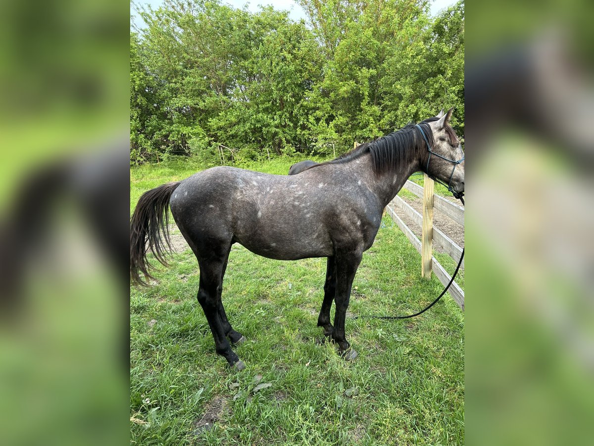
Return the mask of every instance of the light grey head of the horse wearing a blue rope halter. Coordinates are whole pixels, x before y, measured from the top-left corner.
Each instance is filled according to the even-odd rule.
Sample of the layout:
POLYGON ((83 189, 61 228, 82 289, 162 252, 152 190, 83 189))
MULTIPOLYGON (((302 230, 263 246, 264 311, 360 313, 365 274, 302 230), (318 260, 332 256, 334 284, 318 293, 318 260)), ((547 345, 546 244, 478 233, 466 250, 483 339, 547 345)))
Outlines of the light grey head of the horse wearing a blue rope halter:
MULTIPOLYGON (((422 158, 422 168, 431 177, 448 187, 455 197, 464 193, 464 152, 450 118, 454 109, 424 121, 431 129, 433 144, 422 158)), ((426 127, 425 127, 426 128, 426 127)))

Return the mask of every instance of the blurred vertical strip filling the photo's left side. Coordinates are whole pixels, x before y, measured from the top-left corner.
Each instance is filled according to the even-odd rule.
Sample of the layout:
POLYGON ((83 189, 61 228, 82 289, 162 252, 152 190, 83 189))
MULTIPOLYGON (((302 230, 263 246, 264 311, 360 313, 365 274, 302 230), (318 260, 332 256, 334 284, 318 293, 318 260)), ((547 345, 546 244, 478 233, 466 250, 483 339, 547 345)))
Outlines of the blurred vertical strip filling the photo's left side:
POLYGON ((2 444, 128 441, 128 11, 0 3, 2 444))

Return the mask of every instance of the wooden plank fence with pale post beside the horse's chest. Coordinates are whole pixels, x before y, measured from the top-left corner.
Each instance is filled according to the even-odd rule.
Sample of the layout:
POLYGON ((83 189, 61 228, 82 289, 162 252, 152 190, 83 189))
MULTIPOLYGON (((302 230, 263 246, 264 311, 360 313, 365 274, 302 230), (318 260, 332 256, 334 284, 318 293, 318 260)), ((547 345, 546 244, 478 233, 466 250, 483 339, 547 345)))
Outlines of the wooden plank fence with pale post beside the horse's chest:
MULTIPOLYGON (((416 196, 423 199, 423 213, 415 211, 405 200, 399 196, 394 197, 393 203, 397 206, 398 212, 402 212, 409 216, 418 227, 422 228, 422 240, 410 230, 409 227, 402 221, 398 216, 398 213, 388 205, 386 211, 388 215, 394 220, 399 228, 405 233, 406 237, 410 240, 410 243, 415 249, 421 254, 422 257, 422 268, 421 274, 423 277, 431 278, 431 272, 435 272, 435 275, 440 282, 445 286, 450 282, 451 276, 445 271, 440 262, 435 259, 432 253, 433 241, 443 247, 444 251, 457 263, 462 255, 462 248, 460 248, 450 237, 445 235, 443 232, 433 227, 433 211, 443 212, 445 215, 450 217, 457 224, 464 226, 464 208, 456 205, 456 203, 450 202, 443 197, 434 194, 434 181, 425 175, 425 187, 419 186, 410 180, 406 181, 404 189, 409 190, 416 196)), ((460 268, 464 268, 464 262, 460 265, 460 268)), ((464 310, 464 291, 456 282, 453 282, 448 290, 451 297, 456 303, 464 310)))

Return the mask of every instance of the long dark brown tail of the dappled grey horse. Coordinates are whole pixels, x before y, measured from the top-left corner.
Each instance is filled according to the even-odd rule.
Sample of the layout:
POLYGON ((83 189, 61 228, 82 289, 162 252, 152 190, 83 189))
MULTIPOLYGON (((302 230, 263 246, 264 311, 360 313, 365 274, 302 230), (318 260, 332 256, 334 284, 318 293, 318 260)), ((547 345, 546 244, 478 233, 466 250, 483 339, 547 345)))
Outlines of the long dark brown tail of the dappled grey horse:
POLYGON ((130 219, 130 277, 132 282, 148 285, 141 278, 153 278, 154 267, 147 260, 147 251, 167 266, 167 255, 171 251, 169 240, 169 199, 180 181, 167 183, 146 191, 138 200, 130 219))

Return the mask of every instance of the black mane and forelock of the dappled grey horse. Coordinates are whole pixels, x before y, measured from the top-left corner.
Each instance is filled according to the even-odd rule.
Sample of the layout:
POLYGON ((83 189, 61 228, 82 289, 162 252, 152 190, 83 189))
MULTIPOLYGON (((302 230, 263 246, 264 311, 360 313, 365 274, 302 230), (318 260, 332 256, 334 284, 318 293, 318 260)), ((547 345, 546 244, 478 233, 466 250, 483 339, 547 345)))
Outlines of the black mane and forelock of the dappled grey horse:
MULTIPOLYGON (((432 117, 419 123, 431 146, 433 146, 434 140, 433 132, 431 131, 431 128, 429 128, 429 123, 437 120, 437 117, 432 117)), ((445 126, 445 131, 450 137, 450 142, 452 144, 456 143, 456 133, 454 133, 450 124, 445 126)), ((318 165, 343 164, 352 161, 353 159, 360 158, 365 155, 365 153, 371 153, 374 172, 377 175, 381 175, 397 169, 400 165, 413 162, 414 157, 417 154, 415 149, 418 147, 426 147, 425 140, 415 124, 409 123, 400 130, 394 131, 381 138, 374 139, 373 141, 363 143, 349 152, 337 156, 335 159, 318 165)), ((309 169, 315 167, 316 166, 311 166, 309 169)))

